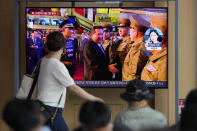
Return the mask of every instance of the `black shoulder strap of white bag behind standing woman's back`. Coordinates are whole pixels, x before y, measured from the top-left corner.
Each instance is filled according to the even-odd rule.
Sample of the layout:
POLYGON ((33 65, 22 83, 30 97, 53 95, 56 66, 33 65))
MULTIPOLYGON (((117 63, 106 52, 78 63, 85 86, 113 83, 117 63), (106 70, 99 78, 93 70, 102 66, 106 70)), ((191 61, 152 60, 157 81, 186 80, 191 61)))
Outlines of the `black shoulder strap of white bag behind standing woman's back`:
POLYGON ((32 94, 34 92, 34 89, 36 87, 36 83, 38 81, 38 76, 39 76, 39 73, 40 73, 40 65, 41 65, 41 60, 39 61, 39 63, 36 65, 36 68, 34 70, 34 72, 32 73, 34 76, 34 80, 33 80, 33 83, 31 85, 31 89, 29 91, 29 94, 27 96, 27 101, 31 100, 31 97, 32 97, 32 94))

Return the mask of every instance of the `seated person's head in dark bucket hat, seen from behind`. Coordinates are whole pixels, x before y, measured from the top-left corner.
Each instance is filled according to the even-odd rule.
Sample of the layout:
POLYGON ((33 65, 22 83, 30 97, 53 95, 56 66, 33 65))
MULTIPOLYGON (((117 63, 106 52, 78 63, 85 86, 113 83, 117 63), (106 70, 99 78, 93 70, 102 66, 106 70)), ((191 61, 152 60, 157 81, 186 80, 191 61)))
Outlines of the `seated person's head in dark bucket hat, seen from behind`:
POLYGON ((153 94, 150 93, 148 88, 145 86, 144 81, 135 79, 129 81, 126 92, 121 94, 120 97, 123 100, 126 100, 132 107, 135 105, 143 105, 143 104, 144 106, 145 105, 148 106, 148 100, 153 99, 154 96, 153 94))

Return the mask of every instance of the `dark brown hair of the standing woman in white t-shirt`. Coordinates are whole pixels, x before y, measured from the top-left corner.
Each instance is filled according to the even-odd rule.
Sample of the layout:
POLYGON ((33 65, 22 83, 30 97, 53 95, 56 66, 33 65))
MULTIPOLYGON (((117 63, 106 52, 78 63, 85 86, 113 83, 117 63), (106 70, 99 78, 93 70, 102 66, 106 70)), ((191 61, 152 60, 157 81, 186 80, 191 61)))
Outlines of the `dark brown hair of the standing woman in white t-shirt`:
POLYGON ((65 44, 65 38, 61 32, 54 31, 47 36, 46 47, 49 51, 58 51, 65 44))

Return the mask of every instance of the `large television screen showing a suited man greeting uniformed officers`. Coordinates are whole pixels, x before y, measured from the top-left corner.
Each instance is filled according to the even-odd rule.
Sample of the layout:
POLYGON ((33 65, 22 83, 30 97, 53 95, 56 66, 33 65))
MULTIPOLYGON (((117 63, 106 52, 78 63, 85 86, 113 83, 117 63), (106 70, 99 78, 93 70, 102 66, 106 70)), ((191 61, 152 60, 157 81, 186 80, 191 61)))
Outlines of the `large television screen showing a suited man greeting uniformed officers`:
POLYGON ((47 35, 65 35, 65 21, 73 20, 61 62, 76 84, 120 88, 142 79, 147 87, 168 87, 167 8, 34 7, 26 8, 26 18, 28 74, 48 53, 47 35))

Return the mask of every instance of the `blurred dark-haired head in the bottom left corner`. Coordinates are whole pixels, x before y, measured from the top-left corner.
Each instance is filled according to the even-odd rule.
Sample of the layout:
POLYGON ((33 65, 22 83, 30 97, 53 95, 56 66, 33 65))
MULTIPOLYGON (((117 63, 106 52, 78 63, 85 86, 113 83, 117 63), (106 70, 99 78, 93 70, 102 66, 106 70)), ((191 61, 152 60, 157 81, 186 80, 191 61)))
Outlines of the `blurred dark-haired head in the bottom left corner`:
POLYGON ((33 101, 11 100, 3 110, 3 119, 14 131, 39 131, 41 112, 33 101))

